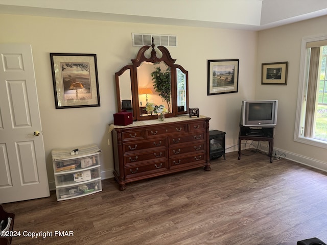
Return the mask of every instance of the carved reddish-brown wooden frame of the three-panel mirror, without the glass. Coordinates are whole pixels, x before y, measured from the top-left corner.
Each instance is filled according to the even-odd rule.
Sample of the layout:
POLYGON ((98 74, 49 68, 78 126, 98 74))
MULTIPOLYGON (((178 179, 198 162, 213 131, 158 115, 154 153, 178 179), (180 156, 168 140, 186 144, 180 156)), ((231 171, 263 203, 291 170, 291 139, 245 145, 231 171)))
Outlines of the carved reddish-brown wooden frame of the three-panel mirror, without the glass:
MULTIPOLYGON (((115 72, 115 82, 116 82, 116 93, 117 93, 117 105, 118 112, 122 111, 122 103, 120 99, 120 84, 119 77, 126 71, 130 70, 130 82, 131 82, 131 93, 132 93, 132 107, 133 107, 133 120, 150 120, 157 119, 157 114, 154 115, 140 115, 139 113, 139 100, 138 100, 138 81, 137 81, 137 67, 142 64, 142 62, 158 63, 164 61, 167 66, 171 67, 171 113, 166 113, 165 117, 174 117, 177 115, 183 115, 189 113, 189 72, 185 70, 181 65, 174 64, 176 59, 173 59, 164 46, 158 46, 157 49, 161 52, 162 56, 157 57, 157 52, 154 48, 153 38, 151 46, 145 45, 141 47, 136 55, 135 59, 132 59, 132 65, 126 65, 121 68, 118 72, 115 72), (152 47, 151 55, 149 58, 146 57, 146 52, 152 47), (177 106, 177 72, 180 69, 185 74, 185 86, 186 86, 186 108, 184 111, 178 111, 177 106)), ((149 75, 150 76, 150 75, 149 75)))

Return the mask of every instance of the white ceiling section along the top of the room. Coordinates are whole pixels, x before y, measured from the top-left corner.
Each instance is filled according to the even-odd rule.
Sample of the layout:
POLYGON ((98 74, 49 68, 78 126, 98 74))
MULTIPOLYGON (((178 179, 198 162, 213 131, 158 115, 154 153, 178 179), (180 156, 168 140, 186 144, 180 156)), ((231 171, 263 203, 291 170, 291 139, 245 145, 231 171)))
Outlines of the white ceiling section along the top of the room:
POLYGON ((327 15, 327 1, 0 0, 0 13, 259 31, 327 15))

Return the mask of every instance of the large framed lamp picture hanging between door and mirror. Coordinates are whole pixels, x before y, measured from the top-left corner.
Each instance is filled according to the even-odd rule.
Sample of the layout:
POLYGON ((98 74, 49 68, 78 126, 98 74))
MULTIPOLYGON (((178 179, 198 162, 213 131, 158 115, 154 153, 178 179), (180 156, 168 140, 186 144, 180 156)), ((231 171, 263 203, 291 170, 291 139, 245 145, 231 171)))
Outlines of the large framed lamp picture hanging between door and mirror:
POLYGON ((50 53, 56 109, 100 106, 96 54, 50 53))

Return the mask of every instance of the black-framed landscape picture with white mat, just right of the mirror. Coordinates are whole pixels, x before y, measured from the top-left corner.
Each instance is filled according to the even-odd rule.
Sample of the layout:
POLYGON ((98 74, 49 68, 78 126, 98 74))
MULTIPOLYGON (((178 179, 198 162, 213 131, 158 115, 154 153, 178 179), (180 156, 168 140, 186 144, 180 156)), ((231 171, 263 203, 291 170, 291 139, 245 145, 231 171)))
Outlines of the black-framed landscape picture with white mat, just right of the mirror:
POLYGON ((208 60, 207 79, 207 95, 238 92, 239 60, 208 60))

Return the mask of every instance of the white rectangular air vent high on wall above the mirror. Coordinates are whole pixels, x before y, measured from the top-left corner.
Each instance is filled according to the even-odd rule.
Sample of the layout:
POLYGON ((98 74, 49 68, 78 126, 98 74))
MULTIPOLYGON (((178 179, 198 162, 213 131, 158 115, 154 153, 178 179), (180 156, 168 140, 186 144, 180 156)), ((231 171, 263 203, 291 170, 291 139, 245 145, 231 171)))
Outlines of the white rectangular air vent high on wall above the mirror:
POLYGON ((177 46, 177 36, 175 35, 132 33, 133 46, 151 45, 152 38, 156 46, 177 46))

